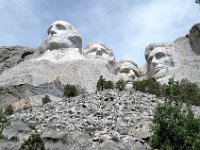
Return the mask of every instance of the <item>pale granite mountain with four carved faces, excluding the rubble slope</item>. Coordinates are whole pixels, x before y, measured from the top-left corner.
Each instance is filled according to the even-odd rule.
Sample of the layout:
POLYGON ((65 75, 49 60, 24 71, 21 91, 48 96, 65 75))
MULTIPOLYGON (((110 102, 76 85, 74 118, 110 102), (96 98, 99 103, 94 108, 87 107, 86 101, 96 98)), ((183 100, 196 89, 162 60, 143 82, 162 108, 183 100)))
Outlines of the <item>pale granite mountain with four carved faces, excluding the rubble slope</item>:
POLYGON ((144 66, 133 60, 116 61, 114 51, 104 44, 89 43, 82 48, 80 34, 68 22, 54 22, 47 33, 37 49, 1 47, 0 91, 9 91, 1 100, 45 94, 62 97, 66 84, 93 93, 101 75, 113 82, 123 79, 126 89, 134 80, 155 78, 166 83, 172 77, 187 78, 200 86, 200 24, 173 43, 147 46, 144 66))

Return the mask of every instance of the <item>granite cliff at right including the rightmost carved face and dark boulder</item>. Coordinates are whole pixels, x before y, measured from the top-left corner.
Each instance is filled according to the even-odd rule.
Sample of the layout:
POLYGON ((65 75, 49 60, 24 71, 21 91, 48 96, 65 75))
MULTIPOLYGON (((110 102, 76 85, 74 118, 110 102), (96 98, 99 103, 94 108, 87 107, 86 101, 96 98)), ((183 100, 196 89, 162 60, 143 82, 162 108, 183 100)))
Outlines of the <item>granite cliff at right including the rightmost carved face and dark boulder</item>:
POLYGON ((170 44, 151 44, 146 48, 147 71, 142 79, 156 78, 166 83, 169 78, 187 78, 200 86, 199 24, 192 27, 189 37, 181 37, 170 44))

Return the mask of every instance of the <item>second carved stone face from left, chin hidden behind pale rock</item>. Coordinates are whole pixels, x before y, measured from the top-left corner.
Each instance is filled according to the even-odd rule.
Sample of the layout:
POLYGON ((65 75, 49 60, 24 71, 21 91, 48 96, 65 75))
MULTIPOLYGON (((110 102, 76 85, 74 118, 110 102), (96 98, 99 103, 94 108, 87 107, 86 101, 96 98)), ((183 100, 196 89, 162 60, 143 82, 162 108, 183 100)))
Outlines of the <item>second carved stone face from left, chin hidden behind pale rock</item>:
POLYGON ((103 59, 115 61, 113 51, 103 44, 89 44, 84 50, 83 54, 89 59, 103 59))

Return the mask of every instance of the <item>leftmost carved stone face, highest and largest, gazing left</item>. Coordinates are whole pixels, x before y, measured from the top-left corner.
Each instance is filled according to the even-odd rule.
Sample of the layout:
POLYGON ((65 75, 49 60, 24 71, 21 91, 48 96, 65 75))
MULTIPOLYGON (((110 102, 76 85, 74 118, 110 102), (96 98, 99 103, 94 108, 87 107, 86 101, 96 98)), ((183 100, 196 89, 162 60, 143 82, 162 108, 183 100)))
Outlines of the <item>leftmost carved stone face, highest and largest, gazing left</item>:
POLYGON ((60 48, 82 47, 82 40, 77 30, 65 21, 56 21, 48 29, 48 48, 50 50, 60 48))

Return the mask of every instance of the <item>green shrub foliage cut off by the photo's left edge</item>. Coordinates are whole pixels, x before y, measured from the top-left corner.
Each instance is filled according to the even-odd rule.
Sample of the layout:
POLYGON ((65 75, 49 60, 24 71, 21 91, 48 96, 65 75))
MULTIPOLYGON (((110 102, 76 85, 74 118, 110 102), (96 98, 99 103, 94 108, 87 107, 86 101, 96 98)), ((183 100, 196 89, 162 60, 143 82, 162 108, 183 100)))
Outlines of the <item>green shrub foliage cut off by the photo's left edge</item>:
POLYGON ((10 125, 5 111, 0 108, 0 139, 2 138, 3 129, 10 125))

